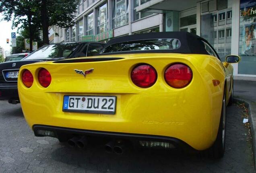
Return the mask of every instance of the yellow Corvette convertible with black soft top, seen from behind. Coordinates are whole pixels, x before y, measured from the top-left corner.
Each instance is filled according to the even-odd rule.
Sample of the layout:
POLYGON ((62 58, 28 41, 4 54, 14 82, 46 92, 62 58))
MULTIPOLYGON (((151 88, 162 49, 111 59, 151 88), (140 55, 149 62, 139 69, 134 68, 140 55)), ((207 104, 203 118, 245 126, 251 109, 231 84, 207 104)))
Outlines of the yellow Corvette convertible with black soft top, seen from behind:
POLYGON ((233 67, 203 38, 159 32, 110 40, 99 56, 22 66, 18 90, 35 136, 72 147, 108 141, 125 147, 225 151, 226 105, 233 67))

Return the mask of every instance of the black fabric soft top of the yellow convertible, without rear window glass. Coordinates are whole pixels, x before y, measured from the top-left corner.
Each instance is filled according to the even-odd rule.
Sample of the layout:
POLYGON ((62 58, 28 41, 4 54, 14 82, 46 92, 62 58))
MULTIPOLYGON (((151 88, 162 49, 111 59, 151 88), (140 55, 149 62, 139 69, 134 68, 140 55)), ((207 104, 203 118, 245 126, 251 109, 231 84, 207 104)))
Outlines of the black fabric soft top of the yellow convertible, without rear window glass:
MULTIPOLYGON (((169 50, 141 50, 141 51, 128 51, 128 52, 104 52, 104 49, 100 54, 125 54, 125 53, 183 53, 183 54, 209 54, 205 50, 205 46, 202 40, 208 43, 204 38, 191 34, 190 32, 151 32, 146 34, 134 34, 128 36, 122 36, 111 39, 107 42, 105 48, 109 45, 129 42, 135 40, 147 40, 147 39, 161 39, 161 38, 176 38, 180 40, 180 47, 177 49, 169 50)), ((209 43, 208 43, 209 44, 209 43)), ((210 44, 209 44, 210 45, 210 44)), ((211 45, 210 45, 211 46, 211 45)), ((214 49, 213 49, 214 50, 214 49)), ((216 53, 216 52, 215 52, 216 53)), ((217 53, 216 53, 217 54, 217 53)))

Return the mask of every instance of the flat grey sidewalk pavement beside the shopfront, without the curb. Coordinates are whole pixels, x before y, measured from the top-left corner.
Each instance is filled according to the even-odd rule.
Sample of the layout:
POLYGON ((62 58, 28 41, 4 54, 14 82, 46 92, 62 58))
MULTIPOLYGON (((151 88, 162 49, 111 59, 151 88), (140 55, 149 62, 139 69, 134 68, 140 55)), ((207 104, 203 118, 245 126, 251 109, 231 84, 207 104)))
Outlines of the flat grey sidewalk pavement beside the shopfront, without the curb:
POLYGON ((256 81, 234 80, 234 96, 256 103, 256 81))

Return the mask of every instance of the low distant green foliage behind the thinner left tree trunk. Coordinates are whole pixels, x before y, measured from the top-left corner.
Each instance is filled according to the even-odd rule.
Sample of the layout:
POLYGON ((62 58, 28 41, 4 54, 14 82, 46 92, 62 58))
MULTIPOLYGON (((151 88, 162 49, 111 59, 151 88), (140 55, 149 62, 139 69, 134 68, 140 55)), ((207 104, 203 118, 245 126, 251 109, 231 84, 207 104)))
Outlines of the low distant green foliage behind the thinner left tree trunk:
MULTIPOLYGON (((19 31, 19 36, 16 37, 16 47, 12 47, 11 54, 21 53, 22 50, 25 50, 24 39, 29 37, 29 29, 24 28, 19 31)), ((39 32, 33 32, 33 41, 37 42, 37 46, 41 47, 43 45, 41 38, 39 37, 39 32)))

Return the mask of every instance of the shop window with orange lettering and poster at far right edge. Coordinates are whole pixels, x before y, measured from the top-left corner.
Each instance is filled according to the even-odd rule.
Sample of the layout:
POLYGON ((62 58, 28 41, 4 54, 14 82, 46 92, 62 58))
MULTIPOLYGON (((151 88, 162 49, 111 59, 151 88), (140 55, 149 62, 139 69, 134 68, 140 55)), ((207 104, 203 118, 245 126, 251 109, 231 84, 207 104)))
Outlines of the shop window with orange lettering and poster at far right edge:
POLYGON ((256 74, 256 2, 240 0, 239 74, 256 74))

